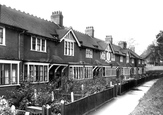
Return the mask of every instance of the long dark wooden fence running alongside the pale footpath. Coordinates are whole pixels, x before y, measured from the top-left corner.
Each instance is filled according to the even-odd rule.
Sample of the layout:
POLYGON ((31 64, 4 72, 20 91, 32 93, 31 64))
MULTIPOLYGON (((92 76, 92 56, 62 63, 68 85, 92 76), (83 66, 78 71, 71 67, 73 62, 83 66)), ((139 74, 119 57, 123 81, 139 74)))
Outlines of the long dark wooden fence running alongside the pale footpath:
MULTIPOLYGON (((153 73, 150 73, 150 74, 143 76, 139 79, 133 79, 133 80, 126 81, 121 85, 115 85, 112 88, 109 88, 102 92, 98 92, 98 93, 92 94, 90 96, 81 98, 72 103, 69 103, 69 104, 62 103, 61 104, 61 115, 83 115, 83 114, 88 113, 91 110, 99 107, 100 105, 110 101, 117 95, 121 95, 121 94, 129 91, 130 89, 143 84, 144 82, 147 82, 149 80, 156 79, 156 78, 159 78, 162 76, 163 76, 163 74, 161 74, 161 73, 158 74, 156 72, 153 72, 153 73)), ((48 110, 50 111, 50 109, 48 109, 48 110)), ((41 110, 41 111, 40 111, 39 115, 51 115, 51 114, 47 114, 47 110, 46 111, 41 110)), ((33 113, 34 113, 34 111, 33 111, 33 113)))

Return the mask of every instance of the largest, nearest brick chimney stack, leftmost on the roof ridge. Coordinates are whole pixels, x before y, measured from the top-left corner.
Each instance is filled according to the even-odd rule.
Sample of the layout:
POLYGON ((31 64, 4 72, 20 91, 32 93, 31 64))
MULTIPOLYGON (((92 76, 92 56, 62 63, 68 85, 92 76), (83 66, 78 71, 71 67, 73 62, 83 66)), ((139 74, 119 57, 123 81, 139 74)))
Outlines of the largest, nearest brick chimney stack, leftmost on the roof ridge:
POLYGON ((63 15, 61 11, 54 11, 51 15, 51 21, 58 24, 59 26, 63 26, 63 15))

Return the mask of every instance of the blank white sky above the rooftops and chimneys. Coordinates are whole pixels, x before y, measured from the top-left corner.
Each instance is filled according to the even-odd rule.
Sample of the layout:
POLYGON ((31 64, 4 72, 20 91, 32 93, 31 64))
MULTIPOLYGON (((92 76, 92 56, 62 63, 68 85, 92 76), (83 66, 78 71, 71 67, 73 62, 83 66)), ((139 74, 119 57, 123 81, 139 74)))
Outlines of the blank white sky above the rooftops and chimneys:
POLYGON ((47 20, 53 11, 62 11, 63 24, 85 33, 93 26, 95 37, 113 43, 132 41, 139 55, 163 30, 162 0, 0 0, 1 5, 47 20))

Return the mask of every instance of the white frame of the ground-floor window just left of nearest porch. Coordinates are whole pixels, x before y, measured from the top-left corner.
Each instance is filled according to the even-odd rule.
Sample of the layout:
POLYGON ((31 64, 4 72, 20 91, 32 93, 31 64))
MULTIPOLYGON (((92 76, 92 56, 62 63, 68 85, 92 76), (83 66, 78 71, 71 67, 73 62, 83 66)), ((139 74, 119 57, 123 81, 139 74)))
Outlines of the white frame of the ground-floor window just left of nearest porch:
MULTIPOLYGON (((49 63, 26 62, 23 65, 24 66, 24 69, 25 69, 25 65, 27 65, 27 79, 25 79, 24 78, 25 76, 23 76, 23 80, 29 80, 31 83, 46 83, 46 82, 49 82, 49 63), (33 66, 33 67, 34 66, 43 66, 43 71, 44 71, 44 67, 47 67, 47 70, 46 70, 46 72, 47 72, 46 81, 31 81, 31 79, 30 79, 30 66, 33 66)), ((24 69, 23 69, 23 71, 24 71, 24 69)), ((33 73, 34 73, 34 71, 33 71, 33 73)), ((43 72, 43 75, 44 75, 44 72, 43 72)))

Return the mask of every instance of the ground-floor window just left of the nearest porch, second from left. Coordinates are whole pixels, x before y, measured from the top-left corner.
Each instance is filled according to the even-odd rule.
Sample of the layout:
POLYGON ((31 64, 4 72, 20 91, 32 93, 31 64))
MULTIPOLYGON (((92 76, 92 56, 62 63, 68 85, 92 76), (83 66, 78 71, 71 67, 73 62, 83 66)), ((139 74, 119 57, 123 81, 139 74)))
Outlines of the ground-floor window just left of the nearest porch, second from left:
POLYGON ((25 63, 24 64, 24 81, 47 82, 48 66, 45 63, 25 63))

